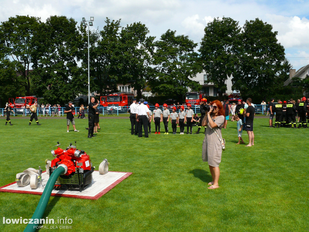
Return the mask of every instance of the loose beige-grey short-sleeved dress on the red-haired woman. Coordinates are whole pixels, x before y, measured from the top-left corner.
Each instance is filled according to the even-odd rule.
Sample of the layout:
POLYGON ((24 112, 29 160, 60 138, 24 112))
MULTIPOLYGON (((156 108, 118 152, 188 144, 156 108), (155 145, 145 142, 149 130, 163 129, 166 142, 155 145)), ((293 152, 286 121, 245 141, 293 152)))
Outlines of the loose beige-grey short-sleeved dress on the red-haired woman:
MULTIPOLYGON (((224 118, 224 116, 220 115, 214 119, 214 122, 218 125, 218 127, 215 127, 214 130, 218 133, 221 139, 221 129, 224 124, 224 118)), ((219 167, 221 162, 222 146, 217 135, 214 133, 214 130, 210 127, 209 122, 207 122, 205 138, 202 147, 202 159, 204 162, 208 162, 208 165, 210 166, 219 167)))

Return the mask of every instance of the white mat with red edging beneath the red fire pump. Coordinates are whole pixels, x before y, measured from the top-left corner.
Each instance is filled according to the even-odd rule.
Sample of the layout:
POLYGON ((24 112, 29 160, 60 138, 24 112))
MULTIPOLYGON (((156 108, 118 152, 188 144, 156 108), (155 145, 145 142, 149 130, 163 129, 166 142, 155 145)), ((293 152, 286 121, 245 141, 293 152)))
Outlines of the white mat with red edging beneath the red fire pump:
MULTIPOLYGON (((131 174, 132 172, 109 171, 107 174, 100 175, 99 171, 94 171, 92 173, 91 184, 89 184, 83 191, 80 192, 70 190, 53 190, 51 195, 98 200, 101 196, 103 196, 121 181, 128 178, 131 174)), ((42 173, 42 182, 44 187, 46 186, 48 179, 49 175, 46 172, 42 173)), ((40 188, 31 189, 29 184, 25 187, 18 187, 16 182, 0 187, 0 192, 15 192, 42 195, 43 191, 44 189, 40 188)))

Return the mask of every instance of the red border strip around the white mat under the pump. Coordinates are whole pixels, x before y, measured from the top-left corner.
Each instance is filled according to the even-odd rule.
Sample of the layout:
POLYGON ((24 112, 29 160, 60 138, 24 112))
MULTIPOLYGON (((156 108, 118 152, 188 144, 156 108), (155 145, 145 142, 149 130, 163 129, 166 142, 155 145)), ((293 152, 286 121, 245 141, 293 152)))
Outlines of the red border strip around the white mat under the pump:
MULTIPOLYGON (((95 171, 95 172, 98 172, 98 171, 95 171)), ((110 172, 114 172, 114 171, 110 171, 110 172)), ((121 173, 126 173, 126 174, 123 177, 121 177, 120 179, 116 180, 111 185, 109 185, 107 188, 105 188, 104 190, 99 192, 95 196, 76 196, 76 195, 68 195, 68 194, 61 194, 61 193, 52 193, 51 196, 63 196, 63 197, 73 197, 73 198, 81 198, 81 199, 89 199, 89 200, 98 200, 101 196, 103 196, 105 193, 110 191, 113 187, 115 187, 121 181, 123 181, 124 179, 128 178, 131 174, 133 174, 132 172, 121 172, 121 173)), ((28 193, 28 194, 36 194, 36 195, 42 195, 42 193, 43 193, 43 192, 2 189, 4 187, 10 186, 10 185, 15 184, 15 183, 16 183, 16 181, 0 187, 0 192, 28 193)))

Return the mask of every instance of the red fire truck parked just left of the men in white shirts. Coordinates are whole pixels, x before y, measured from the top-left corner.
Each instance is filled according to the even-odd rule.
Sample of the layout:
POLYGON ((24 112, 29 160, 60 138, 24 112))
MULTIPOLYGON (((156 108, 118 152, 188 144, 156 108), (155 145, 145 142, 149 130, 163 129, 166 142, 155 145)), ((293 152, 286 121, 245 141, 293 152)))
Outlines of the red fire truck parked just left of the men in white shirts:
POLYGON ((106 110, 123 110, 127 111, 133 102, 133 93, 113 93, 107 95, 106 110))

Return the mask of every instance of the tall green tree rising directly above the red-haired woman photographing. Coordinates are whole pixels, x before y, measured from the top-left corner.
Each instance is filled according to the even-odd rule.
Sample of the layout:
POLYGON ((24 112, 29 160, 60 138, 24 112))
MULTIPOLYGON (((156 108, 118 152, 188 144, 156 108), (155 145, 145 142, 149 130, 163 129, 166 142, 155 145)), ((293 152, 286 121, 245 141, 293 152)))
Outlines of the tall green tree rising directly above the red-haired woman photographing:
POLYGON ((209 22, 204 31, 199 49, 201 62, 209 81, 218 88, 219 98, 222 99, 222 93, 227 89, 226 80, 235 73, 238 63, 240 27, 237 21, 223 17, 209 22))

